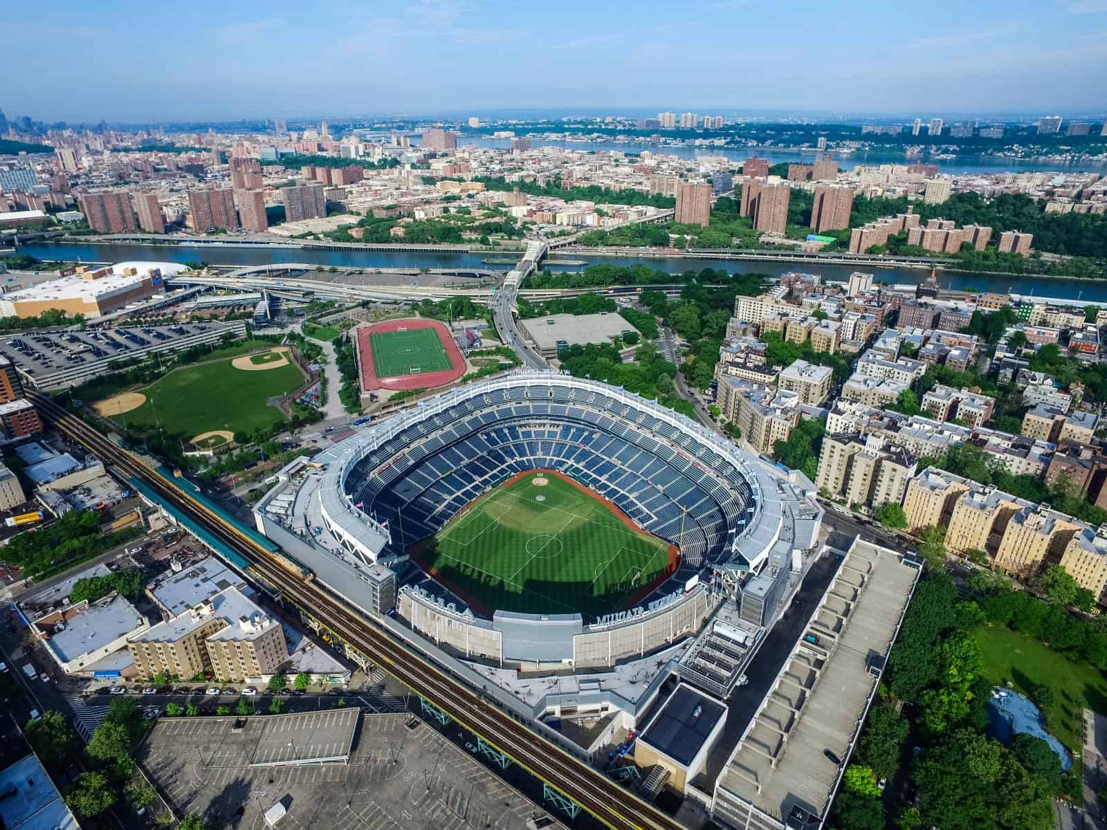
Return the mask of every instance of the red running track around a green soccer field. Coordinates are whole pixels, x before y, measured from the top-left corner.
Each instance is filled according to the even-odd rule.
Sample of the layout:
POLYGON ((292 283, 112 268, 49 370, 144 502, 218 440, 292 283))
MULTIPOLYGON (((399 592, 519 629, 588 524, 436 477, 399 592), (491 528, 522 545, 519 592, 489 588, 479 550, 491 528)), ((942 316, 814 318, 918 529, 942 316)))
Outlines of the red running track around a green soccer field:
POLYGON ((358 330, 365 392, 434 388, 465 373, 465 359, 437 320, 389 320, 358 330))

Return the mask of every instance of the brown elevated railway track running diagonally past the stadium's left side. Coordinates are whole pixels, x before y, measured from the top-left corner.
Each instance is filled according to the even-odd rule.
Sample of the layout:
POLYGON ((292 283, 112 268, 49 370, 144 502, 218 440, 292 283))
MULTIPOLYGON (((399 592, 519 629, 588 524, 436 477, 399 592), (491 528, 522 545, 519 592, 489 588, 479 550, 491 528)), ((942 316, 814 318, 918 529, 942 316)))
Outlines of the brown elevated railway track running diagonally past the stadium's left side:
POLYGON ((371 620, 348 611, 340 599, 318 582, 304 582, 296 578, 234 525, 188 498, 161 475, 48 396, 31 391, 28 396, 61 432, 111 463, 124 475, 141 479, 192 519, 204 525, 220 541, 249 561, 258 574, 277 587, 286 599, 310 610, 313 615, 325 621, 335 634, 375 660, 401 683, 474 734, 480 735, 520 767, 571 798, 599 821, 618 830, 681 829, 682 826, 674 819, 537 735, 507 713, 486 703, 445 670, 393 640, 371 620))

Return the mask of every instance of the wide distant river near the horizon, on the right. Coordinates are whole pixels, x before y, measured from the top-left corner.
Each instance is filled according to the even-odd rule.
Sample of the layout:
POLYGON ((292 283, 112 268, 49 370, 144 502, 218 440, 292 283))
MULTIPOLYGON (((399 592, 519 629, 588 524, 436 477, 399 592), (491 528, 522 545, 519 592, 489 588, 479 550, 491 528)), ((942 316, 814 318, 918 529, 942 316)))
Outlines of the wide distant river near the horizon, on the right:
MULTIPOLYGON (((642 153, 649 151, 660 155, 679 156, 680 158, 694 159, 700 156, 725 156, 735 162, 744 162, 749 156, 757 155, 767 158, 769 164, 780 164, 784 162, 803 162, 810 164, 815 160, 816 153, 800 153, 798 149, 783 149, 775 147, 670 147, 664 144, 635 144, 631 142, 566 142, 551 141, 545 138, 531 138, 535 147, 562 147, 565 149, 577 151, 623 151, 625 153, 642 153)), ((493 147, 495 149, 510 149, 510 138, 477 138, 465 136, 458 139, 461 146, 469 145, 477 147, 493 147)), ((417 143, 412 139, 412 143, 417 143)), ((996 156, 964 155, 956 158, 929 158, 925 156, 908 158, 902 152, 892 151, 863 151, 852 153, 848 156, 839 156, 830 153, 838 159, 838 166, 844 170, 851 170, 857 165, 880 165, 880 164, 937 164, 942 173, 950 175, 963 173, 1035 173, 1035 172, 1064 172, 1064 173, 1098 173, 1107 175, 1107 162, 1087 160, 1062 164, 1046 159, 1023 159, 1023 158, 1001 158, 996 156)))

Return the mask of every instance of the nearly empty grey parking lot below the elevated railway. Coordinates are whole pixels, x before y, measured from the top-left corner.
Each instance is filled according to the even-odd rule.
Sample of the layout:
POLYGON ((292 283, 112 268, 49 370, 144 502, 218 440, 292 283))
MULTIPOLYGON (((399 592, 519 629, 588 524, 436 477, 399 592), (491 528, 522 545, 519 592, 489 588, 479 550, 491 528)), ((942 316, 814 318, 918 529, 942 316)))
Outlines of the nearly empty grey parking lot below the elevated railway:
POLYGON ((524 830, 528 819, 549 817, 474 751, 413 715, 346 709, 292 717, 301 720, 284 728, 283 717, 165 719, 137 758, 175 811, 197 812, 211 827, 262 827, 262 813, 278 802, 288 810, 280 826, 293 830, 524 830), (352 724, 337 719, 350 716, 356 718, 352 724), (313 718, 334 723, 317 726, 313 718), (244 720, 235 733, 236 722, 244 720), (262 727, 251 720, 267 732, 256 733, 262 727), (327 741, 338 743, 348 727, 348 762, 262 766, 284 764, 288 753, 299 753, 299 735, 314 741, 312 751, 329 751, 327 741))

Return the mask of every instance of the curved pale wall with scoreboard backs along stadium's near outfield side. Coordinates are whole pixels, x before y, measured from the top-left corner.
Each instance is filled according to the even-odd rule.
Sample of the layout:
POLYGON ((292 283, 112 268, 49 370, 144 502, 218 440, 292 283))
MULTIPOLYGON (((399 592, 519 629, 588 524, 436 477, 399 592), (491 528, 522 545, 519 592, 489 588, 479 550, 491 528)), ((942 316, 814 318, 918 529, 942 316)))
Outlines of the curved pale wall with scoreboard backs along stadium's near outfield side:
POLYGON ((489 622, 405 585, 400 590, 399 612, 415 631, 469 660, 499 665, 506 661, 529 666, 603 668, 694 635, 723 596, 700 585, 654 611, 583 625, 579 614, 544 616, 503 611, 497 611, 489 622))

